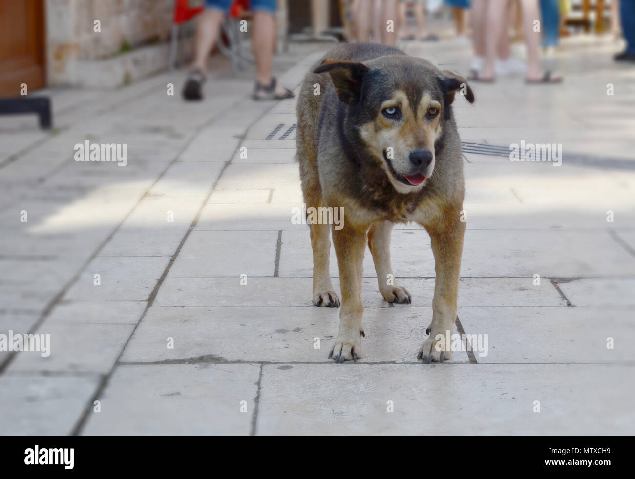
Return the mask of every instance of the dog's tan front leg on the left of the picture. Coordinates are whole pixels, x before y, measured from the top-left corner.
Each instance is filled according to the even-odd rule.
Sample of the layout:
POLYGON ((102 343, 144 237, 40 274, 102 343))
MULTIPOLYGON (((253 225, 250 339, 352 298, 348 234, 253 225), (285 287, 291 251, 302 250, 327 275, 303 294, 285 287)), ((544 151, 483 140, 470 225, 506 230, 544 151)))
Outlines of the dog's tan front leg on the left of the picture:
POLYGON ((342 288, 340 331, 328 355, 335 362, 341 363, 361 358, 361 337, 364 336, 361 281, 367 229, 355 228, 347 225, 346 222, 344 222, 344 228, 340 230, 333 227, 333 244, 342 288))

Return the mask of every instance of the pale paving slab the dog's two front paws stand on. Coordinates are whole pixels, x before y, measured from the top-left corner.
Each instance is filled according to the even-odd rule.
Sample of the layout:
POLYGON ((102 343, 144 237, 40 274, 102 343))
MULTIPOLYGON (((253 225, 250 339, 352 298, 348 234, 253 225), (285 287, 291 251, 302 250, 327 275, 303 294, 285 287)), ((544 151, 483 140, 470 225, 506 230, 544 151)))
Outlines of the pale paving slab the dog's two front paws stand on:
MULTIPOLYGON (((431 318, 432 308, 366 308, 360 361, 417 362, 431 318)), ((121 361, 194 362, 212 355, 220 362, 328 362, 339 322, 334 308, 152 306, 121 361), (173 349, 166 347, 168 338, 174 339, 173 349), (315 338, 319 349, 314 348, 315 338)), ((458 351, 451 362, 469 362, 469 358, 458 351)))

